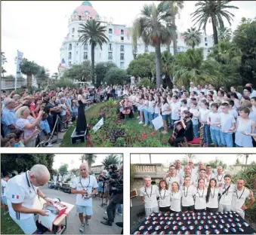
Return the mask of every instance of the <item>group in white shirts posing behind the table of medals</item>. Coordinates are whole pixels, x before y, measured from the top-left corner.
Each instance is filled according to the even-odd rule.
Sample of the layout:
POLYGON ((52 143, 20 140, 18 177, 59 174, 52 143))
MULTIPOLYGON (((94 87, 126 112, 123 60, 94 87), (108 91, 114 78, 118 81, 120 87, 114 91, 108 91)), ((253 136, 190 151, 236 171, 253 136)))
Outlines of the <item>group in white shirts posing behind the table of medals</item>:
POLYGON ((143 176, 140 197, 146 216, 153 212, 229 212, 235 211, 245 218, 245 210, 254 203, 252 191, 245 187, 245 179, 232 182, 222 166, 212 172, 211 165, 193 165, 190 160, 182 167, 180 160, 169 167, 169 172, 153 185, 150 175, 143 176), (246 204, 245 200, 249 202, 246 204))

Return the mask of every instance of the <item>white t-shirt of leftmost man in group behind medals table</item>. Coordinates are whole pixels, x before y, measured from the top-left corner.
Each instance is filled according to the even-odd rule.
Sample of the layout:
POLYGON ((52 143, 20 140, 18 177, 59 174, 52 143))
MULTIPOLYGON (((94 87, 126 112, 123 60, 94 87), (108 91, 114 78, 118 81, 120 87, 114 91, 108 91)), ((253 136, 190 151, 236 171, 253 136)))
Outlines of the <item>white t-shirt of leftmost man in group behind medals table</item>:
POLYGON ((159 188, 156 185, 140 188, 140 196, 145 198, 145 208, 158 207, 156 197, 159 197, 159 188))

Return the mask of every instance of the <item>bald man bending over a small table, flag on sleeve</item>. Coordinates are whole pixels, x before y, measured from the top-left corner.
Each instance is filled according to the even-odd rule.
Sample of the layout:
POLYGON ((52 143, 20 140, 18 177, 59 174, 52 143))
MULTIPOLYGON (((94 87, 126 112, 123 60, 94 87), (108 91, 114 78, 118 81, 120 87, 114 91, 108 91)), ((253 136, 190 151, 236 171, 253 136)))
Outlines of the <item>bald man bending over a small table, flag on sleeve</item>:
POLYGON ((46 197, 39 186, 46 185, 50 179, 50 173, 46 166, 37 164, 30 171, 11 178, 6 186, 6 198, 9 214, 25 234, 35 233, 34 214, 48 215, 45 209, 33 209, 36 197, 42 197, 47 203, 53 200, 46 197))

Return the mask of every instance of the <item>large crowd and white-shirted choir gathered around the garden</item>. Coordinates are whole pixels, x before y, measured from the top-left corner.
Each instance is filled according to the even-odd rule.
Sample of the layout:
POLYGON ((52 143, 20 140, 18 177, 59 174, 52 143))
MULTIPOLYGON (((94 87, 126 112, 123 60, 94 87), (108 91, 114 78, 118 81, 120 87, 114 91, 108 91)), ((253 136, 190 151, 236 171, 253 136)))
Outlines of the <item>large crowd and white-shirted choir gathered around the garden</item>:
MULTIPOLYGON (((224 87, 215 90, 211 84, 196 87, 191 82, 189 89, 176 85, 172 89, 111 85, 2 93, 2 147, 51 145, 51 133, 65 132, 77 118, 81 104, 109 98, 120 101, 122 118, 124 114, 134 118, 137 113, 144 127, 153 128, 153 120, 161 115, 162 133, 174 130, 174 146, 201 137, 200 128, 205 147, 256 146, 256 90, 251 84, 245 84, 241 94, 234 86, 230 91, 224 87)), ((85 117, 78 123, 85 129, 85 117)))

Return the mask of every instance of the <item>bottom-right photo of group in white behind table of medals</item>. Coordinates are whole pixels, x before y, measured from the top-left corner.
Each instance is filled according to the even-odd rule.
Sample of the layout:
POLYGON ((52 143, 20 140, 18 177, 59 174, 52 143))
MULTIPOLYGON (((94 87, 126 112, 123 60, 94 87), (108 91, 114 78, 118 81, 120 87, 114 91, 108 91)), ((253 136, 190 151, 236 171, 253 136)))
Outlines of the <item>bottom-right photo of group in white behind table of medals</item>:
POLYGON ((256 154, 131 154, 132 234, 256 233, 256 154))

